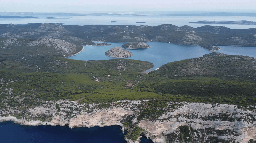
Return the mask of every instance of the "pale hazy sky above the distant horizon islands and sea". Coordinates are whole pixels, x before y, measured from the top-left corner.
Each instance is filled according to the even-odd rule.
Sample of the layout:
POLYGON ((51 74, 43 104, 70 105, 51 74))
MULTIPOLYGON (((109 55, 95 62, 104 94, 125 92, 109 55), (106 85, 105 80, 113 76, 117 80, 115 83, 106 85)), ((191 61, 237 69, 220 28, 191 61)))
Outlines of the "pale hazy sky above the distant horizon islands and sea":
POLYGON ((255 0, 0 0, 0 12, 256 12, 255 0))

